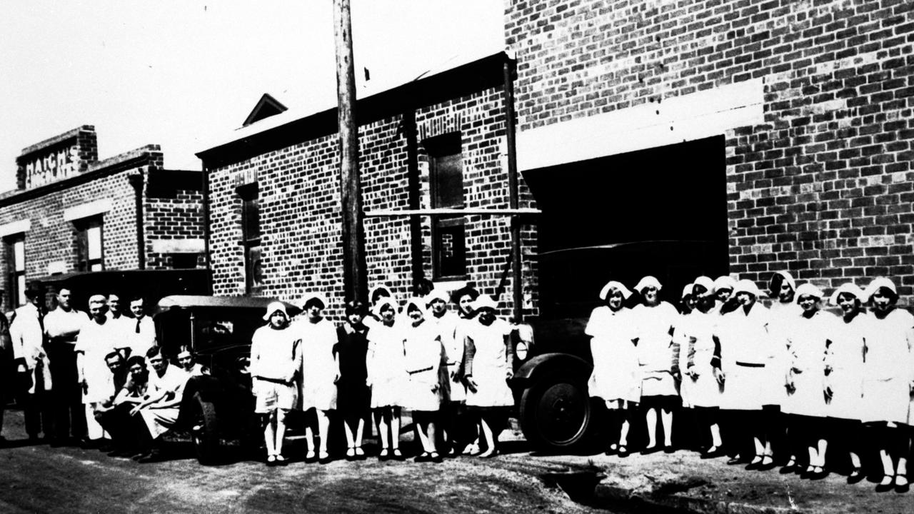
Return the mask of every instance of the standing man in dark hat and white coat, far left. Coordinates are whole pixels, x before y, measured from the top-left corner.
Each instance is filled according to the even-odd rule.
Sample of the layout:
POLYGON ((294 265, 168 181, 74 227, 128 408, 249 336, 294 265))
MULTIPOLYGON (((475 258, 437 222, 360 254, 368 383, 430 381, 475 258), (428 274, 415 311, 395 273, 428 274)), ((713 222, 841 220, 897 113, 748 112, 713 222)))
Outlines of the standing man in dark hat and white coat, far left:
POLYGON ((44 349, 44 327, 41 312, 41 290, 37 284, 26 289, 26 305, 16 309, 9 327, 13 339, 13 359, 16 362, 17 403, 21 403, 26 417, 29 441, 37 441, 38 433, 53 436, 51 420, 50 361, 44 349))

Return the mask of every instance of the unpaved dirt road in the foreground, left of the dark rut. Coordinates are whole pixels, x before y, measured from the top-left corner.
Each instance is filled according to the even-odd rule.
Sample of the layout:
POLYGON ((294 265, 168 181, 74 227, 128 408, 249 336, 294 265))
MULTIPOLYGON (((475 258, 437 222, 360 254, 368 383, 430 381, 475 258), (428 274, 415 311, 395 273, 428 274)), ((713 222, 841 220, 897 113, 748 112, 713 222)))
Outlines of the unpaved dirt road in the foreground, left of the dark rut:
MULTIPOLYGON (((538 477, 561 471, 525 452, 443 464, 335 461, 204 467, 189 456, 136 464, 97 450, 16 445, 21 412, 7 412, 0 512, 605 512, 572 502, 538 477)), ((523 442, 506 449, 523 450, 523 442)), ((292 450, 300 447, 293 444, 292 450)), ((369 450, 370 451, 370 450, 369 450)))

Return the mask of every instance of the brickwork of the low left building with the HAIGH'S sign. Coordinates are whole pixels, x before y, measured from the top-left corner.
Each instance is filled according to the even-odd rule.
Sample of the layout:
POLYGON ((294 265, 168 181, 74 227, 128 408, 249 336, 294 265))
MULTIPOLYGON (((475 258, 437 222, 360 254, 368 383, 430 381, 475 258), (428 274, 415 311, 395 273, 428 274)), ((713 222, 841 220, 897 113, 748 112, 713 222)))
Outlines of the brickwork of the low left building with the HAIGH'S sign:
MULTIPOLYGON (((24 220, 30 224, 24 233, 27 280, 78 269, 79 231, 77 224, 64 219, 64 213, 97 200, 111 200, 110 209, 101 214, 104 269, 132 270, 139 265, 136 193, 130 177, 139 174, 143 176, 143 184, 148 185, 151 174, 163 171, 162 152, 158 145, 147 145, 100 162, 96 159, 95 134, 87 132, 87 127, 91 129, 87 125, 71 131, 79 132, 71 139, 77 154, 83 159, 92 159, 92 162, 80 160, 80 171, 75 176, 42 187, 16 190, 0 198, 0 225, 24 220), (54 270, 48 269, 48 264, 52 263, 54 270)), ((55 141, 55 145, 59 143, 54 138, 48 141, 55 141)), ((69 141, 68 136, 65 143, 69 144, 69 141)), ((27 148, 26 152, 48 147, 52 146, 38 144, 27 148)), ((147 268, 171 267, 170 256, 152 252, 152 241, 202 239, 201 200, 199 187, 197 190, 176 190, 173 198, 144 198, 147 268)), ((7 275, 10 266, 6 261, 6 253, 0 252, 0 271, 3 272, 0 286, 10 291, 7 275)), ((204 262, 200 261, 202 267, 204 262)), ((15 307, 9 305, 8 299, 5 304, 7 308, 15 307)))

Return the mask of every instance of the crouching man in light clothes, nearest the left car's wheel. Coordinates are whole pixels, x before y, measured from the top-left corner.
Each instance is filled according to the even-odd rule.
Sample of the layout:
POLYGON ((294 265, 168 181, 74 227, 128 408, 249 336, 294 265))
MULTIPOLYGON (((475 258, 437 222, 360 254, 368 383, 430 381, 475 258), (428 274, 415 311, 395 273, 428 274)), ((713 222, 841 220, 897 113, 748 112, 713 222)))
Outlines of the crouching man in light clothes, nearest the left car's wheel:
POLYGON ((146 439, 146 452, 136 459, 138 462, 154 462, 160 458, 157 440, 177 421, 184 386, 190 377, 183 369, 169 364, 159 347, 150 348, 146 357, 153 368, 149 389, 143 402, 131 411, 133 416, 142 416, 146 428, 146 433, 141 434, 141 438, 146 439))

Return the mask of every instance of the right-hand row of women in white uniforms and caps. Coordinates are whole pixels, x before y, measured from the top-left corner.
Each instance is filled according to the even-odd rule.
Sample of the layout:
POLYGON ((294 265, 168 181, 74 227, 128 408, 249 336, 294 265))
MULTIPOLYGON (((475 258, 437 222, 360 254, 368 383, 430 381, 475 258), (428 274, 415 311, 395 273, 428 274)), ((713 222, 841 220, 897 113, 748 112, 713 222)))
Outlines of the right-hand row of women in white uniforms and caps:
MULTIPOLYGON (((586 328, 594 364, 590 395, 614 414, 619 434, 608 454, 628 455, 639 403, 648 431, 644 451, 659 449, 655 411, 666 415, 657 400, 669 382, 681 402, 677 412, 696 414, 684 419, 696 420, 696 434, 710 439, 703 444, 707 458, 724 455, 726 444, 729 464, 768 470, 778 457, 781 473, 811 479, 846 459, 853 484, 864 477, 861 458, 878 455, 884 475, 877 490, 908 490, 914 316, 896 306, 891 280, 874 279, 866 291, 842 284, 826 296, 779 272, 770 283, 769 308, 752 281, 702 276, 685 287, 687 306, 675 316, 657 308, 664 305, 656 300, 660 287, 645 277, 634 288, 642 303, 629 309, 624 305, 632 292, 619 282, 606 284, 604 305, 593 310, 586 328), (840 316, 823 310, 823 300, 840 316), (864 441, 875 446, 872 455, 861 455, 864 441), (829 454, 834 462, 826 462, 830 443, 846 454, 829 454)), ((672 452, 675 425, 662 421, 664 449, 672 452)))

